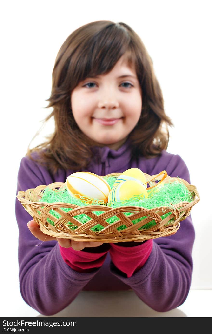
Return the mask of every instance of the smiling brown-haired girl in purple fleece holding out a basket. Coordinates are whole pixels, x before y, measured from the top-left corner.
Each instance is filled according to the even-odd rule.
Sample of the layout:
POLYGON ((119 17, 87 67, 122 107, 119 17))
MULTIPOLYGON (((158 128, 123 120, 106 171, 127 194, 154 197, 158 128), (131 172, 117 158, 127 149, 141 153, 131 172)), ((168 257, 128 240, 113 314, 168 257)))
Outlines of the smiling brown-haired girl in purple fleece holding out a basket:
MULTIPOLYGON (((48 107, 55 131, 28 149, 19 190, 65 182, 75 171, 98 175, 133 167, 166 170, 190 182, 179 155, 168 153, 171 126, 152 59, 125 23, 96 21, 75 30, 57 54, 48 107)), ((191 216, 176 234, 144 242, 78 242, 46 236, 16 201, 20 291, 43 315, 68 306, 81 290, 130 290, 156 311, 187 298, 192 276, 191 216), (28 223, 27 223, 28 222, 28 223), (38 239, 43 242, 39 246, 38 239)))

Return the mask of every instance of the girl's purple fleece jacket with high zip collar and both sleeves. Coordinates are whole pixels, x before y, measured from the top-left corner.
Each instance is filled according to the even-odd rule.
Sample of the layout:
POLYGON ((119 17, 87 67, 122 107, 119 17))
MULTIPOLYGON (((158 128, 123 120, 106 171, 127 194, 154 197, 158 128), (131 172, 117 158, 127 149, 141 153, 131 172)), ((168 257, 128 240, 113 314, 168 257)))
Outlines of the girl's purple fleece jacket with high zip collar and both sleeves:
MULTIPOLYGON (((151 159, 133 158, 127 140, 117 151, 98 146, 92 147, 92 151, 93 161, 85 171, 104 176, 133 167, 150 175, 166 170, 171 177, 179 176, 191 183, 183 159, 166 150, 151 159)), ((23 157, 18 171, 17 193, 41 184, 65 182, 73 172, 60 169, 51 175, 43 166, 23 157)), ((32 217, 17 198, 15 212, 19 227, 20 292, 25 302, 41 314, 53 315, 61 311, 81 290, 133 289, 144 303, 159 312, 174 309, 186 300, 191 285, 195 238, 191 215, 181 222, 176 234, 153 239, 149 259, 137 273, 127 278, 112 263, 110 252, 100 269, 91 273, 74 271, 63 261, 56 241, 41 243, 31 234, 27 222, 32 217)), ((110 244, 104 245, 110 249, 110 244)))

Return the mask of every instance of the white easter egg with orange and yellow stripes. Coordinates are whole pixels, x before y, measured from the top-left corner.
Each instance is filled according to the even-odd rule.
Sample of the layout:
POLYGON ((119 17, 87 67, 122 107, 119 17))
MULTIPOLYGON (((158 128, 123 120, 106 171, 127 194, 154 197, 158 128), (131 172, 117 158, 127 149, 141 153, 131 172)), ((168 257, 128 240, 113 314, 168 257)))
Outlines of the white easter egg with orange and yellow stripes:
POLYGON ((105 203, 111 187, 101 176, 90 172, 76 172, 66 179, 69 194, 78 199, 99 199, 105 203), (81 198, 83 196, 83 198, 81 198))

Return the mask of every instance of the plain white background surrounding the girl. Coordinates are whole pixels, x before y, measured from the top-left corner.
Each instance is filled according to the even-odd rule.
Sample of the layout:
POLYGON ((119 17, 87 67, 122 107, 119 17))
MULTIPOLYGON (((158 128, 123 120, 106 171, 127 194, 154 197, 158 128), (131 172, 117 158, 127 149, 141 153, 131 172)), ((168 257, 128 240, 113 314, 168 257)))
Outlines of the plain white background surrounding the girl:
MULTIPOLYGON (((167 151, 184 159, 201 198, 191 212, 196 230, 191 289, 212 289, 210 6, 211 1, 188 0, 7 1, 2 6, 1 317, 38 315, 19 292, 14 209, 18 168, 51 112, 43 108, 60 46, 75 29, 98 20, 130 25, 153 59, 165 111, 175 125, 167 151)), ((49 122, 31 147, 52 131, 49 122)))

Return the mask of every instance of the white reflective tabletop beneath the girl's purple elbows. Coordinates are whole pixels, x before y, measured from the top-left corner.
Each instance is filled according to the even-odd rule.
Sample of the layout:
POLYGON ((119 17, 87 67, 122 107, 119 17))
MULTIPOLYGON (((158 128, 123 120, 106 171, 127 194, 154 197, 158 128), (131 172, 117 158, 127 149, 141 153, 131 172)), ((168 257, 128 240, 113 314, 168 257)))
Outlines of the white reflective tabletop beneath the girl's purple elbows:
POLYGON ((68 307, 51 317, 211 317, 211 300, 212 290, 190 290, 181 306, 157 312, 134 291, 81 291, 68 307))

